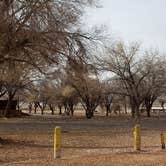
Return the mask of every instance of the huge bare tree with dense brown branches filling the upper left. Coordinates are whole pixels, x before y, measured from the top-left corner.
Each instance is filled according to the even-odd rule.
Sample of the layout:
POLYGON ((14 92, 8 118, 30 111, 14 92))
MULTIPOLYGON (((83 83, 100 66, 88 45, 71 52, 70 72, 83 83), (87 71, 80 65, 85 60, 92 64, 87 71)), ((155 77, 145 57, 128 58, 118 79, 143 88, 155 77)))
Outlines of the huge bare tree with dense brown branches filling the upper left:
MULTIPOLYGON (((0 63, 8 72, 4 74, 17 71, 18 63, 47 73, 71 56, 69 50, 83 49, 91 37, 80 30, 79 21, 84 7, 94 4, 95 0, 1 0, 0 63)), ((13 89, 9 82, 6 87, 13 98, 16 85, 13 89)))

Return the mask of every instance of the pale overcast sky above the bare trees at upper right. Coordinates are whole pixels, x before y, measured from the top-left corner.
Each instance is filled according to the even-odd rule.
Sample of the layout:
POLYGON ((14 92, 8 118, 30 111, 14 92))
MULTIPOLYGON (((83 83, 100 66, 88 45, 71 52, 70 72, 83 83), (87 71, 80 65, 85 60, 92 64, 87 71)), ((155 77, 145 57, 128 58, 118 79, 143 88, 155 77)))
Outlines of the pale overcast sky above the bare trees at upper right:
POLYGON ((166 52, 166 0, 100 1, 102 8, 87 11, 87 25, 107 25, 114 38, 166 52))

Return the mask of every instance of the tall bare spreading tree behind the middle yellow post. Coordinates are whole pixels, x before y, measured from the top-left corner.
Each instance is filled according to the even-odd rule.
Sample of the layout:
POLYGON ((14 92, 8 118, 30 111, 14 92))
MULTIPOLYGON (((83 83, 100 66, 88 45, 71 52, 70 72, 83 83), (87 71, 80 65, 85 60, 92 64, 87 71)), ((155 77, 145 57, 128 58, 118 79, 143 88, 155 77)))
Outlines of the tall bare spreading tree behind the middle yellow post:
POLYGON ((145 77, 150 73, 151 67, 142 69, 140 56, 140 46, 137 43, 125 46, 119 42, 107 48, 105 57, 100 58, 100 68, 114 73, 125 89, 125 93, 130 97, 132 116, 140 117, 140 105, 144 100, 145 77))

